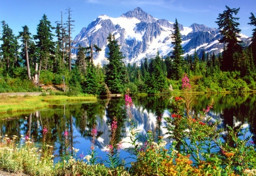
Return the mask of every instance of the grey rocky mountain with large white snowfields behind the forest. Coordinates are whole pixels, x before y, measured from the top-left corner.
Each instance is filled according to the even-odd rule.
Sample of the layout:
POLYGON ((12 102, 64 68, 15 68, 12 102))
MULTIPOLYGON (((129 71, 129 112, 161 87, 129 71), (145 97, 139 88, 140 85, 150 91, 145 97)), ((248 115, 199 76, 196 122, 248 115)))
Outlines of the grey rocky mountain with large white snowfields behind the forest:
MULTIPOLYGON (((183 38, 184 56, 193 54, 195 50, 199 55, 203 50, 215 54, 222 52, 224 45, 218 42, 221 38, 218 28, 193 23, 189 27, 179 24, 179 29, 183 38)), ((75 37, 73 46, 78 48, 79 44, 81 46, 97 44, 102 51, 95 54, 94 63, 104 65, 108 57, 107 37, 112 33, 121 45, 125 63, 140 63, 143 58, 155 57, 158 50, 163 57, 170 55, 173 49, 172 32, 174 32, 174 23, 165 19, 156 19, 137 7, 118 18, 98 16, 87 28, 82 28, 75 37)), ((241 35, 243 41, 248 38, 241 35)), ((75 54, 77 50, 73 52, 75 54)))

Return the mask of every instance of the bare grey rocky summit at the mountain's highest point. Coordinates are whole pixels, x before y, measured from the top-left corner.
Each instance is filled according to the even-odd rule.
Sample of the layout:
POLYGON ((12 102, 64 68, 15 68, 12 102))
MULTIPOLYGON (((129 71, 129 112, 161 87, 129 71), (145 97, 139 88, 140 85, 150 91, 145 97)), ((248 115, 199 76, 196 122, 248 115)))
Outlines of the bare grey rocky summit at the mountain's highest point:
POLYGON ((126 18, 137 18, 141 20, 142 22, 147 22, 147 23, 154 23, 156 22, 156 19, 150 15, 144 12, 141 7, 136 7, 134 10, 128 11, 125 14, 121 15, 122 17, 126 18))

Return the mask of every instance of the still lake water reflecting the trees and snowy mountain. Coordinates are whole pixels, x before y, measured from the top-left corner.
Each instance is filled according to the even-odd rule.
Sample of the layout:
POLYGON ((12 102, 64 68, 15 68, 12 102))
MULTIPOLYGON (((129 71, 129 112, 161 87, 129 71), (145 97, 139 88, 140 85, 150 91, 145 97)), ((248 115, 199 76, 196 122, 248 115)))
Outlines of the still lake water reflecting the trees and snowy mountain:
MULTIPOLYGON (((156 136, 164 136, 166 129, 163 117, 170 115, 170 96, 147 96, 132 97, 133 114, 140 130, 142 142, 146 141, 147 131, 153 131, 156 136)), ((221 121, 220 127, 240 126, 249 127, 249 134, 256 134, 256 94, 255 93, 232 93, 214 95, 193 95, 193 110, 198 113, 207 107, 210 101, 214 100, 213 109, 209 115, 213 120, 221 121)), ((99 97, 98 102, 92 103, 70 103, 52 105, 47 109, 37 111, 0 114, 0 119, 5 117, 11 120, 0 121, 0 135, 28 135, 34 139, 35 143, 42 141, 42 130, 46 126, 48 129, 47 141, 54 145, 55 155, 60 156, 64 151, 64 131, 69 132, 69 143, 71 147, 79 149, 80 154, 87 155, 90 149, 91 131, 93 125, 97 128, 96 151, 102 160, 106 160, 106 146, 109 144, 111 135, 111 123, 113 118, 117 118, 117 137, 122 139, 121 158, 129 157, 131 153, 125 150, 130 147, 127 143, 129 139, 129 124, 127 123, 126 107, 124 97, 99 97)), ((256 142, 255 136, 253 137, 256 142)), ((170 139, 166 139, 170 143, 170 139)), ((126 162, 133 161, 126 158, 126 162)))

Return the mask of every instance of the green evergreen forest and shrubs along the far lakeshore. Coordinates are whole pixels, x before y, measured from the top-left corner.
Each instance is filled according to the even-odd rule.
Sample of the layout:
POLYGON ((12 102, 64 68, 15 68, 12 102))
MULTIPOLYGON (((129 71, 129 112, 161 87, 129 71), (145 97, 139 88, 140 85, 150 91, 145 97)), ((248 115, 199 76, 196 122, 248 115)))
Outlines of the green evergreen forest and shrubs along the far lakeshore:
POLYGON ((112 33, 108 36, 108 64, 94 65, 93 54, 100 51, 95 44, 79 46, 72 58, 73 20, 49 22, 43 15, 32 35, 27 25, 17 36, 4 20, 0 27, 0 92, 40 92, 40 85, 67 85, 69 95, 80 93, 106 95, 125 93, 167 94, 181 89, 184 73, 191 80, 193 92, 249 92, 256 90, 256 18, 250 13, 252 31, 250 45, 245 46, 238 35, 240 8, 229 8, 218 15, 217 25, 224 44, 220 54, 184 54, 177 19, 172 33, 174 49, 170 55, 144 58, 140 65, 125 65, 121 46, 112 33))

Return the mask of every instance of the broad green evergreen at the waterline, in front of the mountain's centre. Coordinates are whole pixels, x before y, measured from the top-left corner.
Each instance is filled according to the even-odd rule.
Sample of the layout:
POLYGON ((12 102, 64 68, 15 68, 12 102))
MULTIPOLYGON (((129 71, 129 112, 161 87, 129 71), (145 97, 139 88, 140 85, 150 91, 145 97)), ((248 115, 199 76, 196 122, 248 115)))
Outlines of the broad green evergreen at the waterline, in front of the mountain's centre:
POLYGON ((106 66, 106 84, 112 93, 121 93, 123 91, 124 82, 121 79, 123 63, 123 55, 120 51, 117 40, 111 33, 108 36, 108 60, 106 66))

